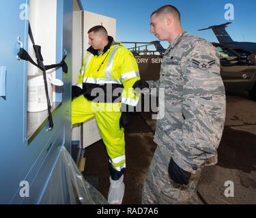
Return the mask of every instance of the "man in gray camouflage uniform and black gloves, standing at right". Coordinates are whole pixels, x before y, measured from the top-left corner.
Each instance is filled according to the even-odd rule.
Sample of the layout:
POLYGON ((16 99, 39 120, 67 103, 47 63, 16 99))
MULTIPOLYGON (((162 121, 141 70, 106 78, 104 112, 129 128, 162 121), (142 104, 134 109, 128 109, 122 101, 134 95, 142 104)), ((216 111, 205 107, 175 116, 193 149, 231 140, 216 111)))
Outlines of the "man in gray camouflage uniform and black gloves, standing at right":
POLYGON ((170 43, 158 81, 139 80, 134 89, 165 89, 154 142, 158 144, 143 186, 143 204, 197 204, 203 166, 217 162, 225 122, 225 89, 218 51, 188 35, 180 12, 165 5, 152 13, 150 32, 170 43))

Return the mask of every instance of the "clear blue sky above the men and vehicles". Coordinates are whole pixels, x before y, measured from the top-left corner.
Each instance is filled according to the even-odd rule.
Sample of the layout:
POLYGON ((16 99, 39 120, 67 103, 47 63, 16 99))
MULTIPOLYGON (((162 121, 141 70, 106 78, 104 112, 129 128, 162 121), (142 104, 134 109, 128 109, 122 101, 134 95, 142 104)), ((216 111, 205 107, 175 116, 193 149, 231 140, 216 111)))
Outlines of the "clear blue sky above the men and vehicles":
MULTIPOLYGON (((255 0, 81 0, 85 10, 117 20, 117 40, 150 42, 150 14, 171 4, 182 14, 182 26, 192 35, 217 42, 212 30, 197 31, 211 25, 232 22, 227 32, 234 41, 256 42, 255 0), (225 20, 225 5, 234 7, 234 20, 225 20)), ((227 13, 226 13, 227 14, 227 13)))

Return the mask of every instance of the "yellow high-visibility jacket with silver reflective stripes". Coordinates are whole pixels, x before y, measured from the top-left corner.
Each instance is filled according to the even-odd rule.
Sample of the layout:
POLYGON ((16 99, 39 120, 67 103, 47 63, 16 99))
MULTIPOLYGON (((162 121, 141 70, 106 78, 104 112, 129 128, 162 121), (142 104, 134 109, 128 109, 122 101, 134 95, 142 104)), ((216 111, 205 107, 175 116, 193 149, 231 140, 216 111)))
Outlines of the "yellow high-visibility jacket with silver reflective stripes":
POLYGON ((87 84, 119 84, 124 87, 122 103, 137 106, 139 94, 132 90, 132 86, 140 76, 132 52, 121 43, 113 42, 113 38, 100 55, 92 48, 87 51, 76 86, 85 89, 87 84))

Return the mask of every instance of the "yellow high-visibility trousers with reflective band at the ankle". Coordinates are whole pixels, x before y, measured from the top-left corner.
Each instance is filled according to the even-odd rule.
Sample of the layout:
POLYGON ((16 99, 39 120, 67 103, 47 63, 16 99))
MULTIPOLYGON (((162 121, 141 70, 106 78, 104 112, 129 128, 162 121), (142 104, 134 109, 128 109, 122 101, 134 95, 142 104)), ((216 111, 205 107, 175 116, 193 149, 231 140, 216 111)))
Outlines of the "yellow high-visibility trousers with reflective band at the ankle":
POLYGON ((117 171, 126 167, 124 128, 119 127, 120 108, 121 103, 91 102, 81 95, 72 101, 71 116, 72 125, 95 116, 111 165, 117 171))

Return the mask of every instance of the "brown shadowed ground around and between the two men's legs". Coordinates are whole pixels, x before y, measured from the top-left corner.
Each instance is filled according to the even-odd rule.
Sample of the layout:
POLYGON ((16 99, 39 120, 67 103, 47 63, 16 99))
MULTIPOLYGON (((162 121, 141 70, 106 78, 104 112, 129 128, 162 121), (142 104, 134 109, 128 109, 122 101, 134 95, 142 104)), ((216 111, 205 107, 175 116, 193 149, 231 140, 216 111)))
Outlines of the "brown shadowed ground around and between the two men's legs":
MULTIPOLYGON (((218 148, 218 163, 204 168, 199 181, 198 193, 204 204, 256 204, 255 108, 256 102, 246 93, 227 94, 227 114, 218 148)), ((153 142, 155 121, 151 116, 146 112, 134 114, 132 125, 126 129, 123 204, 141 204, 143 181, 156 149, 153 142)), ((108 157, 102 140, 87 147, 85 153, 83 175, 107 198, 108 157)))

